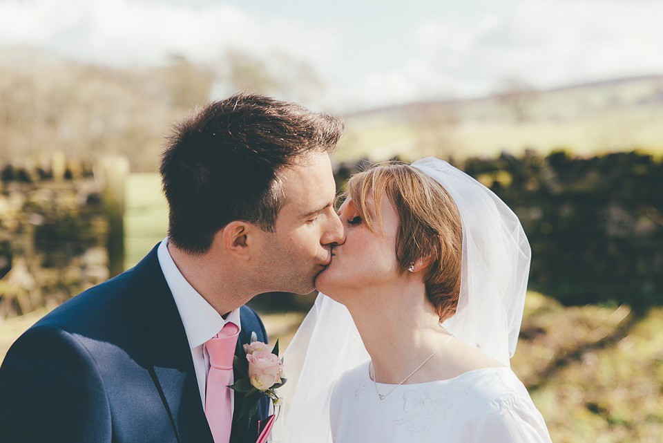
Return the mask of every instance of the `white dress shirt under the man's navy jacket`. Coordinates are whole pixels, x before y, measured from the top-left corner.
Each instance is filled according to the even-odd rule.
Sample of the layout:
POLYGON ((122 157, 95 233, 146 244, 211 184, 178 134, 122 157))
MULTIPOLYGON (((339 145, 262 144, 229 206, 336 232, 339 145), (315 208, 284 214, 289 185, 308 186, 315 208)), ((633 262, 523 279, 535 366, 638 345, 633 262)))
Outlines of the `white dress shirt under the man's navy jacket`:
MULTIPOLYGON (((173 261, 173 257, 168 250, 168 237, 159 245, 157 249, 157 257, 161 270, 166 277, 166 283, 173 293, 173 299, 177 305, 177 310, 180 312, 182 324, 184 325, 184 332, 186 332, 186 339, 189 340, 189 347, 191 348, 191 357, 193 357, 193 368, 195 369, 195 378, 198 380, 198 389, 200 390, 200 399, 202 400, 202 408, 205 408, 205 386, 207 384, 207 373, 209 373, 209 355, 204 347, 207 340, 214 337, 219 333, 223 326, 231 321, 235 323, 240 332, 242 332, 242 325, 240 324, 240 310, 236 309, 226 316, 224 319, 221 314, 216 312, 212 306, 202 298, 198 292, 193 289, 177 265, 173 261)), ((232 379, 231 381, 234 381, 232 379)), ((231 395, 231 411, 235 408, 235 391, 230 391, 231 395)))

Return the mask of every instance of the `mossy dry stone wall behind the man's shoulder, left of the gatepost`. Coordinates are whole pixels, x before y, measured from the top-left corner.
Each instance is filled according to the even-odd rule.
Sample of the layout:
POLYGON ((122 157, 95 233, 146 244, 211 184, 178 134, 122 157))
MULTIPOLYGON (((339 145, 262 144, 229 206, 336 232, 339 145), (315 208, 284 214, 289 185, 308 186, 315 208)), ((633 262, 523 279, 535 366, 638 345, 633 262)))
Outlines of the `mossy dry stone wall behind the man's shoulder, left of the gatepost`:
POLYGON ((57 153, 0 165, 0 319, 58 305, 111 276, 118 257, 108 243, 118 229, 122 243, 122 216, 118 228, 108 202, 123 207, 122 186, 114 198, 109 177, 127 170, 126 160, 92 165, 57 153))

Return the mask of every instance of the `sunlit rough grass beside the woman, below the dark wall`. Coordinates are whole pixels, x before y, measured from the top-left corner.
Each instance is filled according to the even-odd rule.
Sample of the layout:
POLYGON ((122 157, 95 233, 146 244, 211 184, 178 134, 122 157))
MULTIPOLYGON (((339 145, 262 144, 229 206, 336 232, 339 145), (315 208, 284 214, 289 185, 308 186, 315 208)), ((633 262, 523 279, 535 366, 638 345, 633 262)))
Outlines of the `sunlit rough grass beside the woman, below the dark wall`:
POLYGON ((528 294, 512 367, 553 442, 663 441, 663 309, 563 308, 528 294))

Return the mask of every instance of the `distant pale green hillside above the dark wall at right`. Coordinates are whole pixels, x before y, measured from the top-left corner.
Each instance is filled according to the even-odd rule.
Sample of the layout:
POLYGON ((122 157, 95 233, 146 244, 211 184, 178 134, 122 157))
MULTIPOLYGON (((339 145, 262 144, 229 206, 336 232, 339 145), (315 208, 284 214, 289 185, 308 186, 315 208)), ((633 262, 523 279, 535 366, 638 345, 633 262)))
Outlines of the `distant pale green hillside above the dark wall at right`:
POLYGON ((481 100, 415 103, 348 115, 337 157, 465 158, 506 149, 580 154, 663 153, 663 76, 553 91, 503 91, 481 100))

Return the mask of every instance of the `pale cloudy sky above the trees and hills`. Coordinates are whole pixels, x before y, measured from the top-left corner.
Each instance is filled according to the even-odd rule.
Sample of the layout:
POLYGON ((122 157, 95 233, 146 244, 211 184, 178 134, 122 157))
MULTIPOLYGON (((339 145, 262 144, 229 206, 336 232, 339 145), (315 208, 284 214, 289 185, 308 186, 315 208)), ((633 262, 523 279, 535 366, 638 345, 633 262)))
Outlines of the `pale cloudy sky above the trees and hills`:
POLYGON ((0 0, 0 46, 109 66, 224 50, 309 64, 320 107, 663 73, 662 0, 0 0))

